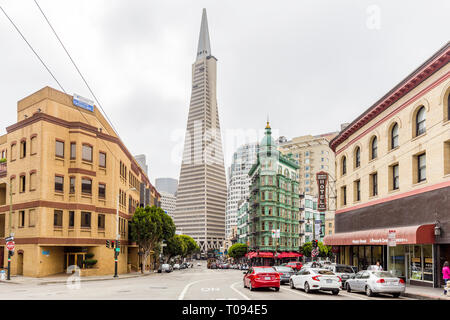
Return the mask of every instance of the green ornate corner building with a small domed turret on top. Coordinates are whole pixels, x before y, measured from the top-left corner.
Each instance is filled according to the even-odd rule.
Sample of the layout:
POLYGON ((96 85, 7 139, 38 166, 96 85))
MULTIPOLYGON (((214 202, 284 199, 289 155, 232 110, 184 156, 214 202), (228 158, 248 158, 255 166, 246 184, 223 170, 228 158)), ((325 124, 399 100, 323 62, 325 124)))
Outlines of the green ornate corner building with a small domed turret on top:
POLYGON ((249 175, 249 249, 264 251, 265 257, 274 257, 276 251, 298 251, 298 166, 277 150, 269 123, 259 145, 257 162, 249 175), (273 238, 272 230, 279 230, 279 237, 273 238))

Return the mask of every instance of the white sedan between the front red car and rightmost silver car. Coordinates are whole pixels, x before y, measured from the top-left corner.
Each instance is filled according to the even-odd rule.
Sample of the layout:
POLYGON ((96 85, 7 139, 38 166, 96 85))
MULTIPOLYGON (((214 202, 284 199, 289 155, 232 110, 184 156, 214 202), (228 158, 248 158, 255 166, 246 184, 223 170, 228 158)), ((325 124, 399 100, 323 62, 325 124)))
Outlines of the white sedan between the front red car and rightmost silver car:
POLYGON ((291 289, 303 289, 306 293, 323 290, 339 294, 342 280, 330 270, 318 268, 302 268, 289 279, 291 289))

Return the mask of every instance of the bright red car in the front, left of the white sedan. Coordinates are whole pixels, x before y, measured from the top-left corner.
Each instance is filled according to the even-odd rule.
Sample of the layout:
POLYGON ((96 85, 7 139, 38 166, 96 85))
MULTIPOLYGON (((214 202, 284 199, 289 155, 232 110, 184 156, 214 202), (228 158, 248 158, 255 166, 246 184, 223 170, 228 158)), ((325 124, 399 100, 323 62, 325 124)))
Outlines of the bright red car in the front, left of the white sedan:
POLYGON ((251 267, 244 272, 244 288, 274 288, 280 290, 280 275, 272 267, 251 267))

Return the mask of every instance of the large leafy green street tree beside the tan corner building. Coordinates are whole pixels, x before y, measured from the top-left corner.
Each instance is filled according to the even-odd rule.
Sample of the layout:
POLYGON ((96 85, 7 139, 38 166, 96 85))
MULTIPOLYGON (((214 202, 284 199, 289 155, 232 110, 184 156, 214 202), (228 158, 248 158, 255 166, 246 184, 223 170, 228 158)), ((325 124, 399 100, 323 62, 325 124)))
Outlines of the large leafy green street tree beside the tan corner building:
POLYGON ((159 251, 161 241, 173 238, 175 224, 161 208, 146 206, 136 208, 130 226, 131 238, 143 251, 142 273, 144 273, 145 261, 150 253, 159 251))

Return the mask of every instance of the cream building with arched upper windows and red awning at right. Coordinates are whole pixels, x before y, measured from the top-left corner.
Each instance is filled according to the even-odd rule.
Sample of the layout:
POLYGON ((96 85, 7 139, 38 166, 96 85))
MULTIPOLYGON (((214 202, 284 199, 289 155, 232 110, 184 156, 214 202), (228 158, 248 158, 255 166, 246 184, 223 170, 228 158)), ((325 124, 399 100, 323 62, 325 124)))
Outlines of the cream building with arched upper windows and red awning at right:
POLYGON ((449 58, 447 43, 330 142, 338 209, 325 243, 341 263, 381 260, 407 282, 442 284, 450 257, 449 58))

